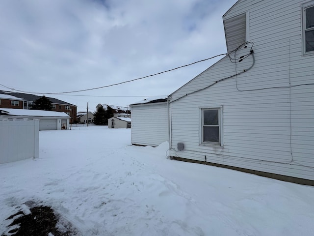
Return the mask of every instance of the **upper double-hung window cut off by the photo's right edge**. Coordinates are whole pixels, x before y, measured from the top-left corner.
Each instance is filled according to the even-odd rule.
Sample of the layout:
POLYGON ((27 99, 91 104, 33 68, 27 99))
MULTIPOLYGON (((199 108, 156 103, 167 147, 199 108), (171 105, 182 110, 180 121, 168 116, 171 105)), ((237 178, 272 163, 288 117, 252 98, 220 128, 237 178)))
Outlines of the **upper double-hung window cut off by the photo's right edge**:
POLYGON ((314 53, 314 1, 303 5, 304 53, 314 53))

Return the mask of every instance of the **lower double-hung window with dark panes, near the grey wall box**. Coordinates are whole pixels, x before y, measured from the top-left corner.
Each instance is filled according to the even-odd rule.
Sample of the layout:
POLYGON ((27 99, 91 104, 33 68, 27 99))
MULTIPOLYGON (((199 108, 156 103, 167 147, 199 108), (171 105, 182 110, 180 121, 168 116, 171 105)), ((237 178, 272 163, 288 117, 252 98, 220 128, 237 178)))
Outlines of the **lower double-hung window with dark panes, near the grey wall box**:
POLYGON ((202 144, 221 144, 220 108, 202 109, 202 144))

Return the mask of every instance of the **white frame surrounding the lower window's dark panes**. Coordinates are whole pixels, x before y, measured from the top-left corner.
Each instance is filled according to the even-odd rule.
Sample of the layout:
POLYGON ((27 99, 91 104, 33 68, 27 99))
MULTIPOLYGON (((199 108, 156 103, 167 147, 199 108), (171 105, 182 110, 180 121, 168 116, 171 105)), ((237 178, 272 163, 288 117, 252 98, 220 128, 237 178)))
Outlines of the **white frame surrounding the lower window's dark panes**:
POLYGON ((200 145, 202 146, 223 146, 223 107, 222 106, 212 106, 212 107, 201 107, 200 108, 200 145), (218 126, 219 126, 219 142, 204 142, 204 113, 205 110, 218 110, 218 126))

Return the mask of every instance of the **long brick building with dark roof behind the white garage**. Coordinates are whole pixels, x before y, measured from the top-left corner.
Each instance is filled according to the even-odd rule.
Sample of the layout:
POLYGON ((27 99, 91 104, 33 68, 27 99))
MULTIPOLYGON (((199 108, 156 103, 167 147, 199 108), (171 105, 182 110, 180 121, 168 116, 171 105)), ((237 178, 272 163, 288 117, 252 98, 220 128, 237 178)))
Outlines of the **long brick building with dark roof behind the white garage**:
MULTIPOLYGON (((40 97, 34 94, 0 90, 0 108, 31 109, 33 102, 40 97)), ((77 120, 77 106, 56 98, 47 98, 52 103, 52 111, 68 114, 71 117, 70 123, 77 120)))

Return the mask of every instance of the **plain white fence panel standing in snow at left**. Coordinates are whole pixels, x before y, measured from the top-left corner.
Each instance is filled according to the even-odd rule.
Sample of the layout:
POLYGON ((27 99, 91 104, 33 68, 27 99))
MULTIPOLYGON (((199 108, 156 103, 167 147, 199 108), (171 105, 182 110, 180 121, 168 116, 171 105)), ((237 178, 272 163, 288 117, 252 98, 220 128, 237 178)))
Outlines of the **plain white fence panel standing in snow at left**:
POLYGON ((39 155, 39 120, 0 121, 0 164, 39 155))

